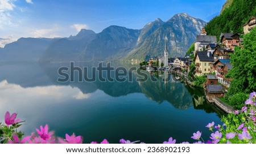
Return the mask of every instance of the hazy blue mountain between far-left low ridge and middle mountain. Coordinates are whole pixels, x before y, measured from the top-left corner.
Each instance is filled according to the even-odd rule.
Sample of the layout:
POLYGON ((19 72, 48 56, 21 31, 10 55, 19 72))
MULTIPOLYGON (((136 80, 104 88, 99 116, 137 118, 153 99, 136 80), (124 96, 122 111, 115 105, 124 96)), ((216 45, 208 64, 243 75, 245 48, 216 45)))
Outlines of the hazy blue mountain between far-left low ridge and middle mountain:
POLYGON ((53 41, 40 58, 40 62, 75 61, 95 37, 96 33, 92 30, 81 29, 76 36, 53 41))

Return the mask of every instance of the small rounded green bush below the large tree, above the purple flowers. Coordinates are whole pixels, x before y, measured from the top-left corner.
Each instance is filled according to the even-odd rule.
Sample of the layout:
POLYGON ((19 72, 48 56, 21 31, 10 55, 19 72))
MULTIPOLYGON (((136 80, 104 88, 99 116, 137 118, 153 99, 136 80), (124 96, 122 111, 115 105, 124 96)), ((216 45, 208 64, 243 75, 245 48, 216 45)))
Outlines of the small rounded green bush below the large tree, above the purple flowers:
POLYGON ((247 93, 236 93, 230 97, 225 97, 225 99, 228 98, 227 104, 232 105, 236 109, 241 109, 248 97, 247 93))

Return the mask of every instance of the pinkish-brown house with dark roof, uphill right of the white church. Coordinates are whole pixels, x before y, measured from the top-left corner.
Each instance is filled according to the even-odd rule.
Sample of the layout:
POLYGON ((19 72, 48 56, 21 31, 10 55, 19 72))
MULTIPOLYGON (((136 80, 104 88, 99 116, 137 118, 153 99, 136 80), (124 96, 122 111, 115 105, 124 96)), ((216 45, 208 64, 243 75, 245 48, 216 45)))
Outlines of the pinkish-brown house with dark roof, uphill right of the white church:
POLYGON ((224 49, 234 50, 235 46, 240 45, 240 35, 237 33, 221 33, 220 42, 224 49))

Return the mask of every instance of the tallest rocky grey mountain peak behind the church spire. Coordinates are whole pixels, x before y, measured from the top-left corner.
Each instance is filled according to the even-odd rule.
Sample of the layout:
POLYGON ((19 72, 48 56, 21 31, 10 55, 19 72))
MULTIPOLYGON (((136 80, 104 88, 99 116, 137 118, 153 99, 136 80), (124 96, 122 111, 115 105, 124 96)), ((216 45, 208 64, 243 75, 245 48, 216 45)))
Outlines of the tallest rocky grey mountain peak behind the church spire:
POLYGON ((201 28, 205 24, 205 21, 185 13, 176 14, 165 23, 156 19, 142 29, 137 46, 130 51, 126 59, 144 60, 145 58, 162 56, 165 37, 168 38, 167 45, 170 57, 184 56, 185 51, 196 40, 196 36, 200 34, 201 28))

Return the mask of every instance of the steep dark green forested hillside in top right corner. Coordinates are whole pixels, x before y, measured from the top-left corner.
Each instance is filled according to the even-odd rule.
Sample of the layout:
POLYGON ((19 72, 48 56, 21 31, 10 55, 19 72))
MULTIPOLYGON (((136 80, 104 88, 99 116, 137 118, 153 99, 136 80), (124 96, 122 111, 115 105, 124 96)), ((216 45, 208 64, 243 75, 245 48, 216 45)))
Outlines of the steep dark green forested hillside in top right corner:
POLYGON ((245 24, 250 16, 256 15, 255 0, 236 0, 226 8, 221 15, 213 18, 205 26, 208 35, 220 36, 224 32, 243 32, 245 24))

